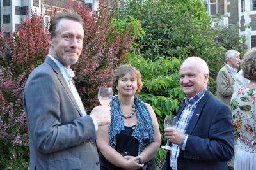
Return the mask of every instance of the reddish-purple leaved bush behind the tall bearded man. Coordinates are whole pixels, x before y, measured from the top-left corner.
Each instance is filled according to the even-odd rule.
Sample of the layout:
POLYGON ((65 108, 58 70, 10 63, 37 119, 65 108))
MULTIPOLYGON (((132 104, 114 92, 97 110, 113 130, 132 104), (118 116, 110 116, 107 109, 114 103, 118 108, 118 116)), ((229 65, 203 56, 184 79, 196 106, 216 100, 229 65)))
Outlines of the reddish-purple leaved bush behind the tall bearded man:
MULTIPOLYGON (((87 111, 99 104, 99 86, 111 83, 113 69, 125 59, 127 49, 136 37, 136 33, 129 34, 129 28, 125 32, 114 29, 111 22, 115 9, 109 10, 103 4, 101 1, 97 11, 72 1, 66 6, 84 20, 83 52, 72 69, 87 111)), ((52 8, 51 17, 59 10, 52 8)), ((44 62, 48 52, 43 17, 31 11, 31 17, 27 16, 19 31, 12 32, 9 37, 3 32, 0 35, 0 136, 15 145, 28 146, 22 92, 29 73, 44 62)))

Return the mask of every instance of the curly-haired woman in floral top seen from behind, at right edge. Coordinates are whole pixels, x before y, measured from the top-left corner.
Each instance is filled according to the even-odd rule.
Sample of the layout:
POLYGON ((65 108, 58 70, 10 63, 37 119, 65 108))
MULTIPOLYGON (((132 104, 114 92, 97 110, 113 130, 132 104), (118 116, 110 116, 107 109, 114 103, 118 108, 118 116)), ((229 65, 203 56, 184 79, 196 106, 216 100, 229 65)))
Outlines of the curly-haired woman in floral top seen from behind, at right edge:
POLYGON ((250 83, 234 92, 230 109, 234 118, 236 170, 256 168, 256 48, 250 50, 241 62, 244 78, 250 83))

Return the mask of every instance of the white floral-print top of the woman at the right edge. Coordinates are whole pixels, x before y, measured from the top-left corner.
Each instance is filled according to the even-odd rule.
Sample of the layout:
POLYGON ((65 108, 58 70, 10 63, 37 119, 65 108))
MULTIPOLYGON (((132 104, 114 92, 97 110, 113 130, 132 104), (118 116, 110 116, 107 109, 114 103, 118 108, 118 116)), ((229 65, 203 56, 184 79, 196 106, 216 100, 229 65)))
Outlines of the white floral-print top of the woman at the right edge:
POLYGON ((255 89, 241 87, 234 92, 230 103, 237 144, 239 148, 251 153, 256 153, 255 96, 255 89))

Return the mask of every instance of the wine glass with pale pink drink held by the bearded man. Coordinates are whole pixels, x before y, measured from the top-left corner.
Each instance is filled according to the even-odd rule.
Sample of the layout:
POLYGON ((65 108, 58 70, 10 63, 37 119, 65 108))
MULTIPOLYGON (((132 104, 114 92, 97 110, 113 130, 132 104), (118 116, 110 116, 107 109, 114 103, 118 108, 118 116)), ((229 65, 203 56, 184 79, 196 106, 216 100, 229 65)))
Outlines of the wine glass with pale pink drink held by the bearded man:
POLYGON ((112 100, 113 92, 111 87, 100 87, 98 92, 98 99, 102 106, 107 106, 112 100))

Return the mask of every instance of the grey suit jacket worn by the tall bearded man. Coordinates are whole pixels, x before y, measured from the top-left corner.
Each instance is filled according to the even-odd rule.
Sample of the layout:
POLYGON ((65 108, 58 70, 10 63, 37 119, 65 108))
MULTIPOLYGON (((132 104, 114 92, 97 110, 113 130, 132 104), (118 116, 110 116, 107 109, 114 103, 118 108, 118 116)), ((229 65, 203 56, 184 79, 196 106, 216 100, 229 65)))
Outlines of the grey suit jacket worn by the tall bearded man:
POLYGON ((100 169, 96 132, 82 116, 63 75, 47 57, 29 75, 24 89, 29 169, 100 169))

